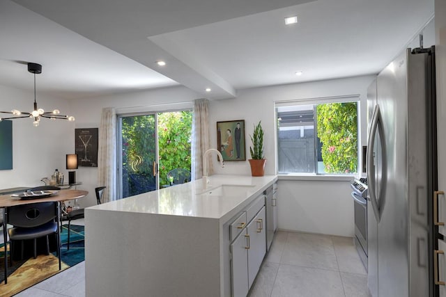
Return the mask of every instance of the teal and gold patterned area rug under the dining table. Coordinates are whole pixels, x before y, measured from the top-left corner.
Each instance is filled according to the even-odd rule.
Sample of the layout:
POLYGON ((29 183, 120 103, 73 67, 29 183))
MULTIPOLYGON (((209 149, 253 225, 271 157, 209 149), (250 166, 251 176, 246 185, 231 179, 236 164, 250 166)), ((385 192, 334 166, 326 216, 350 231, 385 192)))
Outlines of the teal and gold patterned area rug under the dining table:
MULTIPOLYGON (((8 284, 4 282, 4 248, 3 244, 0 244, 0 296, 13 296, 24 289, 32 287, 38 282, 52 277, 66 268, 70 268, 84 261, 84 226, 71 225, 70 227, 70 250, 67 250, 68 225, 62 226, 62 268, 60 271, 59 259, 57 258, 56 252, 51 252, 49 255, 38 255, 36 259, 31 257, 23 261, 14 261, 13 266, 8 267, 8 284)), ((10 264, 9 261, 8 264, 10 264)))

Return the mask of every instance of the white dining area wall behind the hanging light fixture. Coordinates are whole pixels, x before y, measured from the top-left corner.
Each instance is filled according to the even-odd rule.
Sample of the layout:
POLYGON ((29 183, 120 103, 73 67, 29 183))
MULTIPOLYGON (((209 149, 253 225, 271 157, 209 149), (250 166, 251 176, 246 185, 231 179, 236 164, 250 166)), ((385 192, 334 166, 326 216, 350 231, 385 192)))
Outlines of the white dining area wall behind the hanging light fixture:
MULTIPOLYGON (((2 111, 33 111, 33 99, 33 93, 0 86, 2 111)), ((70 113, 63 100, 38 94, 37 103, 39 108, 70 113)), ((74 152, 74 129, 68 120, 42 119, 39 127, 29 118, 13 120, 13 170, 0 170, 0 188, 43 185, 40 179, 51 176, 55 168, 68 178, 66 154, 74 152)))

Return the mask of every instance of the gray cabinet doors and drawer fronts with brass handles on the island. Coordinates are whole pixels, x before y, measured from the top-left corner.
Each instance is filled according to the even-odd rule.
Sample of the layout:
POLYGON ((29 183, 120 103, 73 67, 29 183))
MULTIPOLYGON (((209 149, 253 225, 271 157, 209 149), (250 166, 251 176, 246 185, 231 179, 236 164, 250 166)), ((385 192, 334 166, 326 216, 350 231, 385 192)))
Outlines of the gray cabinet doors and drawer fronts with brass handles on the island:
POLYGON ((266 254, 266 212, 263 195, 230 225, 231 295, 247 296, 266 254), (247 225, 243 222, 247 220, 247 225), (241 231, 240 231, 241 229, 241 231))

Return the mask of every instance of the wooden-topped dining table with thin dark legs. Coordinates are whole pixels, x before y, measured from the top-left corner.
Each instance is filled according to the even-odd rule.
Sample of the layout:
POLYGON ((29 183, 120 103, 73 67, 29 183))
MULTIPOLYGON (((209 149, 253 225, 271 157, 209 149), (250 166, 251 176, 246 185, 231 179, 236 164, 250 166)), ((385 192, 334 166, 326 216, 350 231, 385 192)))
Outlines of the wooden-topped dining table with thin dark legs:
MULTIPOLYGON (((3 209, 3 240, 5 241, 5 280, 6 280, 6 216, 8 212, 8 207, 14 207, 16 205, 22 205, 22 204, 31 204, 31 203, 37 203, 37 202, 58 202, 59 204, 59 212, 61 209, 61 202, 68 201, 68 200, 74 200, 78 198, 85 197, 88 195, 88 191, 84 190, 61 190, 57 191, 56 193, 49 195, 45 198, 36 198, 36 199, 30 199, 29 197, 26 197, 25 199, 22 199, 21 197, 17 197, 17 193, 10 194, 10 195, 0 195, 0 208, 3 209)), ((60 218, 60 215, 59 215, 60 218)), ((60 236, 60 232, 59 232, 60 236)), ((60 242, 60 241, 59 241, 60 242)))

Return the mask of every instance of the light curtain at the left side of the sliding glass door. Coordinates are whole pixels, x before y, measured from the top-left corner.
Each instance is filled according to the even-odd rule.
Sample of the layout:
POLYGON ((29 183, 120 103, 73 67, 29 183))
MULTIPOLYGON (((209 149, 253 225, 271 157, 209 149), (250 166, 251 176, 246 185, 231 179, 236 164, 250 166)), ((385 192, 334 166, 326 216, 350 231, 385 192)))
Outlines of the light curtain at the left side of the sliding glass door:
POLYGON ((117 199, 116 195, 116 111, 102 109, 99 127, 98 186, 106 186, 103 202, 117 199))

